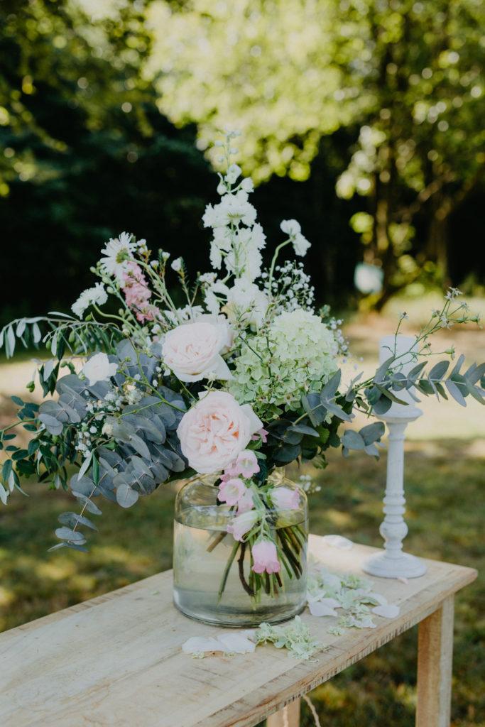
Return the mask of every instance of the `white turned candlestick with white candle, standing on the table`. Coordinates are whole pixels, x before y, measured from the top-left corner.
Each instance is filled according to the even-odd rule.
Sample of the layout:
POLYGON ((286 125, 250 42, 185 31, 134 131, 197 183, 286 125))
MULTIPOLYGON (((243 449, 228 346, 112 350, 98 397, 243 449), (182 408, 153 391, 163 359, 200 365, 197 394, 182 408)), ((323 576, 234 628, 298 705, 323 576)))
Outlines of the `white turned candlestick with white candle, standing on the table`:
MULTIPOLYGON (((412 350, 414 338, 405 336, 385 336, 380 341, 380 363, 396 353, 399 356, 412 350)), ((407 374, 415 365, 415 356, 412 353, 403 357, 399 371, 407 374)), ((385 496, 382 510, 385 518, 380 524, 380 534, 385 541, 384 550, 375 553, 361 563, 361 568, 372 576, 384 578, 415 578, 426 572, 426 566, 419 558, 409 553, 403 553, 403 540, 408 533, 404 521, 406 512, 406 499, 404 498, 404 439, 405 430, 409 422, 422 415, 422 411, 414 405, 414 399, 408 391, 397 393, 398 398, 407 401, 404 404, 392 403, 386 414, 379 419, 386 422, 389 430, 388 437, 388 467, 385 496)))

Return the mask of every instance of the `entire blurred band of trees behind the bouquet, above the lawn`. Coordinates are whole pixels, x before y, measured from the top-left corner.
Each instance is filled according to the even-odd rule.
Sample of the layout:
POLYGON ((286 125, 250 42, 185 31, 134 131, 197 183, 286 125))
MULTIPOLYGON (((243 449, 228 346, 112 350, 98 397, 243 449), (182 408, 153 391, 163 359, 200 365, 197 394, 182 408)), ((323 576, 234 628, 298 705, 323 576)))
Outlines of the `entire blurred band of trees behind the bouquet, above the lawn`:
POLYGON ((268 236, 297 217, 312 241, 319 302, 480 292, 478 0, 0 0, 0 15, 4 321, 66 310, 124 229, 205 269, 225 126, 244 132, 268 236), (363 260, 379 292, 356 291, 363 260))

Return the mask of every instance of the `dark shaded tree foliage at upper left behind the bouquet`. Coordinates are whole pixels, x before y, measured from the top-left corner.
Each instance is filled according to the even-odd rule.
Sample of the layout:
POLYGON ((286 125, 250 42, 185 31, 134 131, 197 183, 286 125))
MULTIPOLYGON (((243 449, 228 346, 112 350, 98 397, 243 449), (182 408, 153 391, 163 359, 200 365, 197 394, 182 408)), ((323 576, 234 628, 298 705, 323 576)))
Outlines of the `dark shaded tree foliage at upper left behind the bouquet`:
POLYGON ((72 2, 2 0, 0 13, 7 321, 64 310, 121 230, 175 248, 197 228, 209 167, 140 78, 150 39, 136 3, 96 18, 72 2))

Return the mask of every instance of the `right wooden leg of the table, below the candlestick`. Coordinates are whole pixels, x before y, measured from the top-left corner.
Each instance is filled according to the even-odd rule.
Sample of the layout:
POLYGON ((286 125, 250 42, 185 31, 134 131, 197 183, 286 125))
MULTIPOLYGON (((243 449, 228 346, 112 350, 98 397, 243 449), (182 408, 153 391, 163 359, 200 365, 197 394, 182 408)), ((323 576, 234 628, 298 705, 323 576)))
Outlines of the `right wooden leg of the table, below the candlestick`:
POLYGON ((416 727, 449 727, 452 707, 453 596, 420 623, 416 727))

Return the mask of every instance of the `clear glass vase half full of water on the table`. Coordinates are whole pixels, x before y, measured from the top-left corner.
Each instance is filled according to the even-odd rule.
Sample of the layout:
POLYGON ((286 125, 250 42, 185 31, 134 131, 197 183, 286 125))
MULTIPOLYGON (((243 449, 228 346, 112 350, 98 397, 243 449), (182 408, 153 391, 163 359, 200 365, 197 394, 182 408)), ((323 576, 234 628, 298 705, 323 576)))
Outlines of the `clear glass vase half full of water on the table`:
POLYGON ((217 502, 217 486, 197 479, 180 489, 174 523, 174 603, 179 611, 209 624, 254 626, 285 621, 305 608, 307 498, 288 480, 277 486, 297 491, 297 508, 265 511, 281 563, 271 576, 255 574, 249 543, 228 533, 235 508, 217 502))

